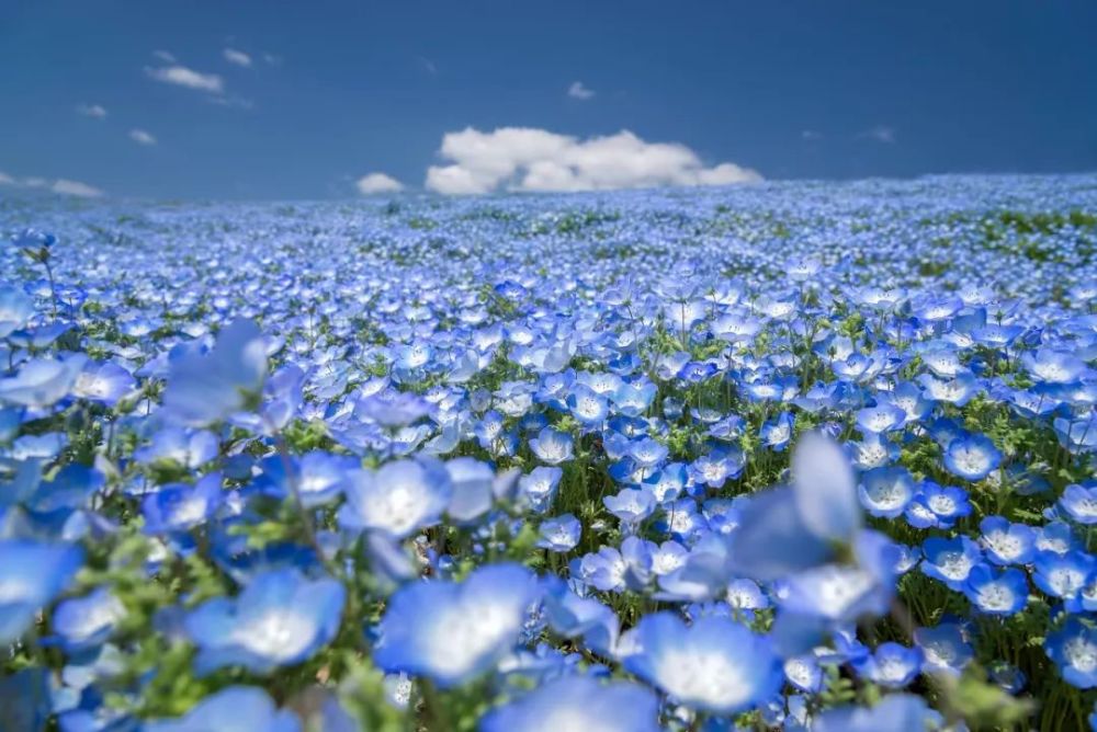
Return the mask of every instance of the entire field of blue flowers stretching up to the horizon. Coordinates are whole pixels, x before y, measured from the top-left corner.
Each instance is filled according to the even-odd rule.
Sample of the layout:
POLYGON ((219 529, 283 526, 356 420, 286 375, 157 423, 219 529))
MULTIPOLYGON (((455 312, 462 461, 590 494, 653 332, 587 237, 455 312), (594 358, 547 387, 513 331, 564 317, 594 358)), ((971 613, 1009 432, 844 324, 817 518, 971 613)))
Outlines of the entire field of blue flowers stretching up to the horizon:
POLYGON ((1097 722, 1097 178, 0 231, 0 730, 1097 722))

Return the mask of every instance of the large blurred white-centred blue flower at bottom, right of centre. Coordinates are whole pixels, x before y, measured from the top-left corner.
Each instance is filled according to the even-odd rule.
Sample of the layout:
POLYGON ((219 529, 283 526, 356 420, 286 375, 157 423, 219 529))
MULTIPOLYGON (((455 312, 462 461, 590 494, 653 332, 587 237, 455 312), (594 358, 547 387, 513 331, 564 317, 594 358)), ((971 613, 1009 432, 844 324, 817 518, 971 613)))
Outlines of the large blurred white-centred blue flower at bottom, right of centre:
POLYGON ((640 619, 625 668, 699 711, 734 714, 768 701, 784 682, 768 638, 719 616, 687 626, 669 613, 640 619))

